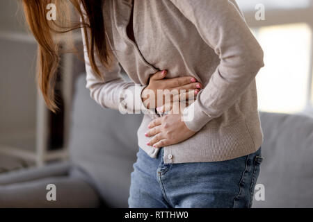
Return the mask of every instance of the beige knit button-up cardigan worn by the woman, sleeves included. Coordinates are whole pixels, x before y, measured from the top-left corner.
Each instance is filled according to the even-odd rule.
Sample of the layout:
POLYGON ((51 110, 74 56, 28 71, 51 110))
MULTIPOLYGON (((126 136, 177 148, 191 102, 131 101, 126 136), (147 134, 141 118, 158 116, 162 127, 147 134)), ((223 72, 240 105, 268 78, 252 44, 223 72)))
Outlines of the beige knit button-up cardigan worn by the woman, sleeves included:
POLYGON ((167 69, 168 78, 194 76, 204 89, 184 115, 194 114, 185 123, 198 133, 165 146, 164 162, 216 162, 257 151, 263 135, 255 76, 264 66, 263 51, 236 1, 134 0, 136 43, 126 31, 132 7, 131 0, 105 1, 106 37, 114 58, 111 69, 99 65, 101 80, 85 51, 86 87, 92 98, 104 108, 119 110, 126 101, 127 112, 146 112, 138 145, 156 157, 159 148, 147 146, 150 138, 144 134, 148 123, 159 116, 143 107, 141 90, 150 74, 159 70, 167 69), (119 63, 133 83, 121 78, 119 63))

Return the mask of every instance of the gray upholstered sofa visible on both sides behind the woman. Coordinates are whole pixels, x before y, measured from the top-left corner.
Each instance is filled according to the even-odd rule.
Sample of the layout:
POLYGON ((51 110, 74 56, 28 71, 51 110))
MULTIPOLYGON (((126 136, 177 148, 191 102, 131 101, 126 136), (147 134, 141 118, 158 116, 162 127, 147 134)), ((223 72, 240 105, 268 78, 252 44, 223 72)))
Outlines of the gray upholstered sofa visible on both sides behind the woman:
MULTIPOLYGON (((0 207, 127 207, 142 116, 104 110, 77 80, 69 162, 0 175, 0 207), (46 186, 55 184, 56 201, 46 186)), ((257 183, 265 200, 253 207, 313 207, 313 119, 260 114, 264 162, 257 183)))

